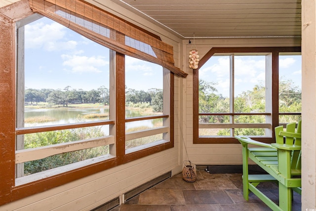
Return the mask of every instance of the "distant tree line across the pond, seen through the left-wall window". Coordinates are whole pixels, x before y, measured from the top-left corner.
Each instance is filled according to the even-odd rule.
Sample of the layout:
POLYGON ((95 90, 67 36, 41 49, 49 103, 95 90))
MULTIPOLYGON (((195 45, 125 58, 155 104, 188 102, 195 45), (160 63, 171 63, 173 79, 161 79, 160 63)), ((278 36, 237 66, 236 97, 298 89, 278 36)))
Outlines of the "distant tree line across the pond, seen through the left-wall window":
MULTIPOLYGON (((148 103, 153 107, 154 112, 162 112, 163 94, 162 89, 152 88, 148 91, 130 89, 125 86, 126 105, 148 103)), ((66 86, 64 89, 25 89, 25 104, 47 102, 52 105, 80 104, 80 103, 102 103, 109 105, 110 90, 105 86, 97 89, 83 90, 71 89, 66 86)))

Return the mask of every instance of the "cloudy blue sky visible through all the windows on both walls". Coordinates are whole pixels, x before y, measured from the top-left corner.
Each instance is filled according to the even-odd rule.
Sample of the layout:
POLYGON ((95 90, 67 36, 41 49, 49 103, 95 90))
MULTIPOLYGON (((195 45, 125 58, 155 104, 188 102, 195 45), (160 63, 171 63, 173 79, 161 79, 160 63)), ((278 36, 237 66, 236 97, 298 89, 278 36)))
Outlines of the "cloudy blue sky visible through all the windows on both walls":
MULTIPOLYGON (((301 87, 301 56, 281 56, 280 76, 301 87)), ((236 94, 265 78, 264 56, 235 56, 236 94)), ((200 78, 217 82, 229 95, 229 57, 213 56, 199 69, 200 78)), ((162 88, 161 67, 126 57, 127 88, 162 88)), ((109 87, 109 49, 48 19, 25 26, 25 86, 27 88, 97 89, 109 87)))

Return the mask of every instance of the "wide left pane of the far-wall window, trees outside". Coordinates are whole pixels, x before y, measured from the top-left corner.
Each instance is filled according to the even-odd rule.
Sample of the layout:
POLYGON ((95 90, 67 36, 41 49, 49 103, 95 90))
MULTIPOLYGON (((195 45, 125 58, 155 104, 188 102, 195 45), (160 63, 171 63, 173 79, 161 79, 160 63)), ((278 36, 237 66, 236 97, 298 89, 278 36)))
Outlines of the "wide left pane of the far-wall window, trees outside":
POLYGON ((265 135, 265 96, 265 56, 213 55, 199 69, 199 135, 265 135))

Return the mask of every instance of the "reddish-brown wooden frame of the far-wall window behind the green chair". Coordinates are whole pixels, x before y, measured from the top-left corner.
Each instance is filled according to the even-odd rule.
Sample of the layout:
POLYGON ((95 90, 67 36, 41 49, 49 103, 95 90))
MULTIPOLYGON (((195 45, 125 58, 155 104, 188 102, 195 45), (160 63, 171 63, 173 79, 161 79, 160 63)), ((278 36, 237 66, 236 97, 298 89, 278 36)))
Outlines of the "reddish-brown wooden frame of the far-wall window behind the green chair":
MULTIPOLYGON (((194 144, 239 144, 234 137, 200 137, 198 135, 198 70, 212 57, 215 53, 232 54, 232 53, 267 53, 271 55, 270 65, 272 70, 272 93, 271 93, 271 112, 264 113, 271 118, 271 127, 278 126, 278 59, 279 53, 285 52, 301 52, 300 46, 292 47, 213 47, 199 61, 198 69, 193 71, 193 143, 194 144)), ((218 114, 217 114, 218 115, 218 114)), ((236 114, 228 114, 236 115, 236 114)), ((258 141, 272 143, 275 139, 274 130, 271 130, 271 137, 256 137, 258 141)))

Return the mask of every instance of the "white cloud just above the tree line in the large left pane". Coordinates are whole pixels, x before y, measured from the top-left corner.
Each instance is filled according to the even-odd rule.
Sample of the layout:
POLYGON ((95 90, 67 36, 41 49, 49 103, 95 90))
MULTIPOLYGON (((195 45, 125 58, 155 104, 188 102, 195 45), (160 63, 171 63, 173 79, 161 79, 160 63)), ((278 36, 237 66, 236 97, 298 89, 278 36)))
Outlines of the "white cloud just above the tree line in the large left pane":
POLYGON ((70 67, 73 73, 102 72, 99 68, 109 64, 104 56, 78 56, 78 55, 61 55, 64 60, 63 66, 70 67))

